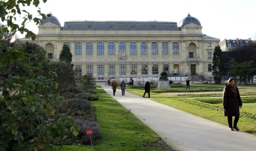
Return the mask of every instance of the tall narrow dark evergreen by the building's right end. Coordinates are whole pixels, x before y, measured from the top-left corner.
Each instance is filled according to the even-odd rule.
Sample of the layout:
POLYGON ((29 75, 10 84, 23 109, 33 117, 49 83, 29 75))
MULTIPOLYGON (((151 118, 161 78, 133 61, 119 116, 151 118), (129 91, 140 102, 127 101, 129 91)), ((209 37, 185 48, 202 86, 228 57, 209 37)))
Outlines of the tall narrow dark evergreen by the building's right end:
POLYGON ((220 46, 215 46, 212 57, 212 75, 216 84, 221 83, 222 63, 220 46))

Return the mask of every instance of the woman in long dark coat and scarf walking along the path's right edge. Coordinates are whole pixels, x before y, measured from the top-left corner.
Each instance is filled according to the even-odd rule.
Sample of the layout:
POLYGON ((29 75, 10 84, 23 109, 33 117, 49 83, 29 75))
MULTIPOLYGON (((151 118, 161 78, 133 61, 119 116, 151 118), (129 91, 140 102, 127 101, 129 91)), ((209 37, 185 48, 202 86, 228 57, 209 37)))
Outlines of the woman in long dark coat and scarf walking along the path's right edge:
POLYGON ((223 89, 223 107, 224 107, 224 116, 227 117, 228 127, 231 131, 239 131, 237 128, 237 122, 239 120, 239 108, 242 107, 242 101, 238 88, 235 86, 235 80, 233 77, 230 77, 223 89), (234 116, 234 123, 232 126, 232 117, 234 116))

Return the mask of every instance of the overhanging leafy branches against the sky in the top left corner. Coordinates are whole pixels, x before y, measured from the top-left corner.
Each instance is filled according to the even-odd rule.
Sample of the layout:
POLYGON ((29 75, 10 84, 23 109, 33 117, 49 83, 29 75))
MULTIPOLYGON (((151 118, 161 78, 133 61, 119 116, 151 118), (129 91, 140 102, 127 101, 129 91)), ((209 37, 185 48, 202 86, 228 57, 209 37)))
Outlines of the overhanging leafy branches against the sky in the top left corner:
MULTIPOLYGON (((42 0, 42 1, 46 2, 47 0, 42 0)), ((25 32, 26 33, 25 37, 27 38, 31 37, 32 40, 36 38, 35 33, 28 30, 25 27, 25 24, 33 20, 37 25, 39 24, 41 19, 37 17, 33 17, 32 14, 30 14, 26 10, 20 10, 20 5, 30 6, 31 2, 32 2, 32 5, 37 7, 40 3, 40 0, 1 0, 0 1, 0 18, 2 22, 6 23, 6 25, 3 26, 0 30, 0 38, 3 36, 4 33, 9 31, 9 29, 12 34, 15 34, 16 31, 19 31, 21 34, 25 32), (26 13, 26 15, 22 17, 21 25, 18 25, 14 23, 17 19, 15 15, 16 13, 20 15, 21 11, 26 13)), ((39 8, 37 12, 38 12, 38 15, 41 16, 42 18, 46 17, 45 14, 41 13, 39 8)))

